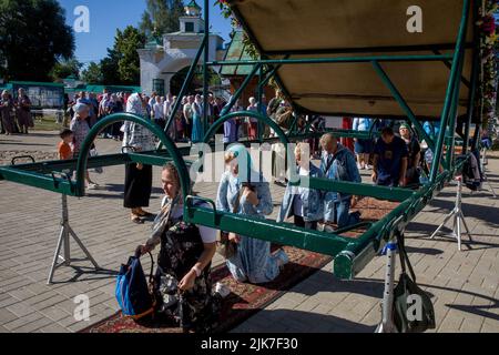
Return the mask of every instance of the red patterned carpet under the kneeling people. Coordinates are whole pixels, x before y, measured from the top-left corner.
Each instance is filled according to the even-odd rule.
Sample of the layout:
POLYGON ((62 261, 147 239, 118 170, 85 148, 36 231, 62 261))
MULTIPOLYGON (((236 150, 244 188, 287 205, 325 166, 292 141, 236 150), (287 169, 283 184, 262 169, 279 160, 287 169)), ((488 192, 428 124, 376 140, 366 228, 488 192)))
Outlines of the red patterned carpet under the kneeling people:
MULTIPOLYGON (((367 197, 360 200, 353 211, 360 211, 363 213, 361 219, 365 221, 377 221, 397 205, 398 203, 367 197)), ((352 231, 347 235, 355 237, 363 232, 361 230, 352 231)), ((285 251, 289 256, 289 264, 284 267, 274 282, 265 285, 240 284, 234 281, 225 266, 220 266, 213 271, 214 284, 222 282, 232 291, 232 294, 223 303, 220 317, 223 322, 215 328, 214 333, 224 333, 233 329, 333 260, 330 256, 294 247, 286 246, 285 251)), ((118 313, 90 326, 82 333, 181 333, 181 329, 171 324, 162 324, 160 321, 138 324, 133 320, 123 317, 121 313, 118 313)))

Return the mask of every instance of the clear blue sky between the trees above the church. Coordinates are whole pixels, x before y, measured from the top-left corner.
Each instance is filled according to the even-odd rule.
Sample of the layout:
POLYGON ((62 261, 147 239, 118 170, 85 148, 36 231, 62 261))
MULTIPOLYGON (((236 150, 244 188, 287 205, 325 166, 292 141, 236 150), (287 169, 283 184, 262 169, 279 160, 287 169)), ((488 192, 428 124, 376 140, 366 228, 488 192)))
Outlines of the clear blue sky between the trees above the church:
MULTIPOLYGON (((145 0, 59 0, 59 2, 65 10, 67 23, 71 27, 77 20, 74 9, 79 6, 89 8, 90 32, 74 33, 77 42, 74 55, 84 64, 106 57, 106 49, 114 43, 116 29, 124 29, 129 24, 136 27, 145 10, 145 0)), ((203 7, 204 1, 197 0, 197 3, 203 7)), ((212 32, 221 34, 228 41, 231 22, 221 16, 220 8, 214 7, 214 0, 210 0, 212 32)))

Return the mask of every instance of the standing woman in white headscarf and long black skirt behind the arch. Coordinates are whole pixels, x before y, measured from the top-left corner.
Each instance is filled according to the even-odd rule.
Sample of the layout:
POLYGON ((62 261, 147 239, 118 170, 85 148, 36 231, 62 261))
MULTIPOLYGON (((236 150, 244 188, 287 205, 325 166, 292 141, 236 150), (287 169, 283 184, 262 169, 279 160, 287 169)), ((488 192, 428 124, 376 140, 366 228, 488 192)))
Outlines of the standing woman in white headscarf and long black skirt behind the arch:
MULTIPOLYGON (((146 116, 147 102, 140 93, 133 93, 126 102, 126 112, 146 116)), ((124 126, 123 148, 128 152, 147 152, 155 149, 154 134, 141 124, 126 121, 124 126)), ((152 192, 152 166, 142 163, 126 164, 124 207, 131 209, 131 221, 143 224, 144 217, 152 214, 142 207, 149 207, 152 192)))

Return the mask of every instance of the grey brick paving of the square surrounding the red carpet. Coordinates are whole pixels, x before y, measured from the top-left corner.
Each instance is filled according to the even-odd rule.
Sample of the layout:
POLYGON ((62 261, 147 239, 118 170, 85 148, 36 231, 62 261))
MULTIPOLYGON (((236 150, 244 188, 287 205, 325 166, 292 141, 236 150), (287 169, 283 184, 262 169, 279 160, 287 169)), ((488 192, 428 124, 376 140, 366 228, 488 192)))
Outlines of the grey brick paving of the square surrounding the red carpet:
MULTIPOLYGON (((57 141, 55 132, 0 136, 0 164, 14 151, 49 156, 57 141)), ((110 140, 100 140, 98 148, 101 153, 119 151, 110 140)), ((499 160, 490 159, 489 170, 499 191, 499 160)), ((0 182, 0 333, 78 332, 118 310, 115 272, 151 227, 129 222, 122 207, 123 174, 123 166, 106 168, 95 176, 102 190, 82 200, 69 199, 71 226, 104 271, 94 273, 88 262, 75 263, 59 268, 51 286, 45 281, 60 231, 61 196, 0 182), (80 294, 90 297, 90 322, 73 317, 73 300, 80 294)), ((162 196, 159 169, 154 176, 151 211, 159 209, 162 196)), ((196 186, 206 197, 214 197, 215 189, 196 186)), ((273 187, 275 201, 282 194, 283 189, 273 187)), ((464 212, 475 239, 465 252, 457 251, 455 241, 426 239, 452 202, 449 187, 409 226, 407 245, 418 281, 435 296, 438 332, 499 332, 499 200, 465 193, 464 212)), ((217 257, 215 265, 221 262, 217 257)), ((354 282, 339 282, 330 271, 332 265, 326 266, 234 332, 373 332, 380 320, 384 258, 375 258, 354 282)))

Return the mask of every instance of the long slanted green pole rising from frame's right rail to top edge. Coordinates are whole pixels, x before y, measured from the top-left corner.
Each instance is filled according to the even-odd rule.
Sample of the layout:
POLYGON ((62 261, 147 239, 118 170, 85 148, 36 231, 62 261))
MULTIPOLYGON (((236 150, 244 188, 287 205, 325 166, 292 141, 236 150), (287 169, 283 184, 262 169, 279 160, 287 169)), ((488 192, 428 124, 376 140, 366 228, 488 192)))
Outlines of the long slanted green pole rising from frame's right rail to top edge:
POLYGON ((430 173, 430 182, 434 183, 437 180, 438 170, 440 168, 441 162, 441 153, 444 148, 444 140, 446 136, 446 128, 449 119, 450 113, 450 105, 452 104, 454 99, 454 88, 456 80, 458 80, 458 69, 459 69, 459 58, 461 55, 461 51, 465 44, 466 39, 466 28, 468 24, 468 14, 469 14, 469 0, 464 0, 462 4, 462 17, 461 17, 461 23, 459 26, 459 33, 458 39, 456 43, 456 50, 454 53, 454 60, 452 60, 452 70, 450 71, 450 79, 447 87, 447 93, 446 93, 446 100, 444 104, 444 111, 441 114, 441 122, 440 122, 440 132, 437 140, 437 145, 434 151, 434 163, 431 165, 431 173, 430 173))

